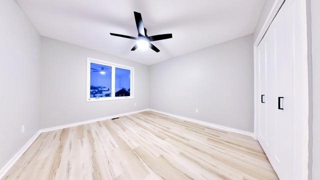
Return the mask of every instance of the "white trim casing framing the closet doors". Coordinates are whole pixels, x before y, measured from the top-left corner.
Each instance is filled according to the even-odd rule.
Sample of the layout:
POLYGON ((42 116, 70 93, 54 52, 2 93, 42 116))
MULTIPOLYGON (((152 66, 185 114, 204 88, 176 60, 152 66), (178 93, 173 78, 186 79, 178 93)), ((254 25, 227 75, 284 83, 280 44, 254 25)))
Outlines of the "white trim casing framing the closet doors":
MULTIPOLYGON (((273 18, 275 17, 275 15, 277 14, 278 10, 280 9, 280 7, 282 6, 282 4, 284 3, 285 0, 274 0, 274 3, 271 7, 271 10, 266 18, 266 20, 263 23, 263 26, 261 28, 261 30, 258 32, 258 35, 256 37, 256 39, 253 42, 253 66, 254 66, 254 132, 253 132, 253 138, 257 139, 257 118, 258 118, 258 111, 257 111, 257 105, 259 103, 259 94, 258 94, 258 62, 257 62, 257 46, 260 43, 261 39, 263 38, 264 34, 266 33, 269 25, 271 24, 273 18)), ((304 19, 304 23, 305 23, 305 49, 303 49, 302 55, 305 55, 305 63, 307 64, 307 16, 306 16, 306 4, 304 1, 304 6, 301 6, 301 8, 305 9, 305 18, 304 19)), ((293 62, 294 63, 294 62, 293 62)), ((299 65, 299 64, 297 64, 299 65)), ((296 72, 297 74, 301 74, 301 73, 305 73, 305 71, 302 70, 298 71, 296 69, 293 69, 294 73, 296 72)), ((303 74, 304 75, 304 74, 303 74)), ((307 75, 307 71, 306 71, 306 75, 307 75)), ((295 79, 293 78, 293 81, 297 80, 297 81, 301 81, 300 79, 295 79)), ((297 174, 295 174, 295 179, 308 179, 308 108, 309 108, 309 104, 308 104, 308 78, 306 76, 306 85, 305 88, 302 89, 303 91, 303 98, 306 99, 298 99, 299 102, 302 102, 300 105, 295 105, 294 107, 294 111, 297 108, 303 108, 303 110, 298 110, 298 112, 294 113, 294 116, 298 116, 301 117, 301 122, 299 122, 299 129, 297 130, 297 127, 294 128, 294 131, 297 130, 298 131, 298 135, 294 136, 294 148, 298 148, 297 150, 294 150, 295 154, 300 154, 299 157, 295 157, 294 158, 294 165, 293 168, 294 170, 297 169, 301 169, 297 174), (305 94, 306 93, 306 94, 305 94), (306 96, 305 96, 306 95, 306 96), (305 118, 305 120, 303 120, 305 118)), ((303 85, 304 86, 304 85, 303 85)), ((294 122, 296 122, 294 120, 294 122)), ((297 155, 295 155, 297 156, 297 155)))

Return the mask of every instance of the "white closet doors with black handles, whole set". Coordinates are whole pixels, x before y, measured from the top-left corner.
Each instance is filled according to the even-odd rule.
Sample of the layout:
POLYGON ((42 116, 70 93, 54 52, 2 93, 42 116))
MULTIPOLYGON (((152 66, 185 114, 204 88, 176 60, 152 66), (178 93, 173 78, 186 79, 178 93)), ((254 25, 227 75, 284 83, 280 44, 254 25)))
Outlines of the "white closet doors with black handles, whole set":
POLYGON ((257 138, 280 179, 301 179, 305 168, 299 166, 304 154, 297 145, 302 136, 298 125, 303 124, 297 99, 305 99, 300 89, 307 89, 307 84, 297 85, 307 76, 296 74, 305 68, 297 62, 306 62, 302 2, 286 0, 257 46, 258 93, 264 94, 257 107, 257 138))

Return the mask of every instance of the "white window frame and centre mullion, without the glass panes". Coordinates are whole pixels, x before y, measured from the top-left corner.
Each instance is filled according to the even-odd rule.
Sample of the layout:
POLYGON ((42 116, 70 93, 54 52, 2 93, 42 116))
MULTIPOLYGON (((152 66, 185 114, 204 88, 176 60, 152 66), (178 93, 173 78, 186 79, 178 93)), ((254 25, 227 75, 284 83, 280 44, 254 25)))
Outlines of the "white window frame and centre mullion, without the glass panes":
POLYGON ((91 57, 86 58, 86 101, 102 101, 102 100, 120 100, 120 99, 132 99, 134 98, 134 67, 112 63, 104 60, 99 60, 91 57), (90 63, 97 63, 101 65, 111 66, 111 97, 90 97, 90 63), (115 96, 115 67, 130 70, 130 96, 115 96))

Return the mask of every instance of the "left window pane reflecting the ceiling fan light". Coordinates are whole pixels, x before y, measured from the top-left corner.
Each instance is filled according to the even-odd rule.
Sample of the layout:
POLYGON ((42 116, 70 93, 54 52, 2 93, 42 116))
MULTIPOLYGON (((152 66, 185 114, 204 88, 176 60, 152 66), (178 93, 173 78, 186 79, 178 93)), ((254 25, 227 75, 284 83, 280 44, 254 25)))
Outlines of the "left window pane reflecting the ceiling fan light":
POLYGON ((90 98, 111 96, 111 66, 90 63, 90 98))

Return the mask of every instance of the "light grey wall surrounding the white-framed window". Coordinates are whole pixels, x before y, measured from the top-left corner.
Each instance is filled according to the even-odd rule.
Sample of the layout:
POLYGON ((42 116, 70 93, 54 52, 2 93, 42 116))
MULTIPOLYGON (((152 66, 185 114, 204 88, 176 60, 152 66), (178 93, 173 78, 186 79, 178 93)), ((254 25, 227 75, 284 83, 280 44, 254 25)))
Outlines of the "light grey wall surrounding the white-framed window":
POLYGON ((41 52, 41 128, 148 108, 147 65, 48 37, 41 52), (86 102, 87 56, 134 67, 134 99, 86 102))

